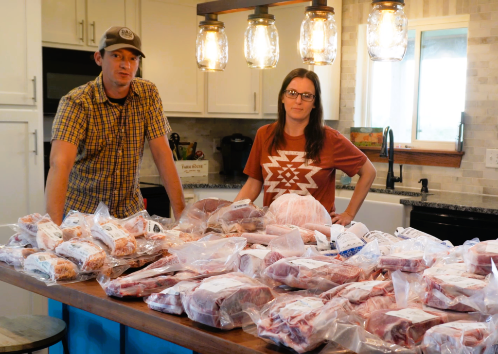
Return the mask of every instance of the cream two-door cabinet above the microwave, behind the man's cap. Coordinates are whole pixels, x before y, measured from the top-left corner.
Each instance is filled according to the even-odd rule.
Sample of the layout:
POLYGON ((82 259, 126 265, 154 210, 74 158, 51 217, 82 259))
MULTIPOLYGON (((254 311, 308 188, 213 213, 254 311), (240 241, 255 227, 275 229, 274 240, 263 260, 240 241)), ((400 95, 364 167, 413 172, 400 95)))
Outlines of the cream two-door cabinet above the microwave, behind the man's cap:
POLYGON ((94 51, 111 26, 139 34, 138 0, 42 0, 42 40, 47 47, 94 51))

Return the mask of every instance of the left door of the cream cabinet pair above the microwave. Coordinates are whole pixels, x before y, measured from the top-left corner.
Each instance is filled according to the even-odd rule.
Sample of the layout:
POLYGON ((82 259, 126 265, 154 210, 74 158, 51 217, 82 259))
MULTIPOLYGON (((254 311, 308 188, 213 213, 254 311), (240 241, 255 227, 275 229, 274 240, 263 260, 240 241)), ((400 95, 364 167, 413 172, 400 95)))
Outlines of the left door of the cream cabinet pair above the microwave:
POLYGON ((85 0, 43 0, 41 37, 44 42, 85 44, 85 0))

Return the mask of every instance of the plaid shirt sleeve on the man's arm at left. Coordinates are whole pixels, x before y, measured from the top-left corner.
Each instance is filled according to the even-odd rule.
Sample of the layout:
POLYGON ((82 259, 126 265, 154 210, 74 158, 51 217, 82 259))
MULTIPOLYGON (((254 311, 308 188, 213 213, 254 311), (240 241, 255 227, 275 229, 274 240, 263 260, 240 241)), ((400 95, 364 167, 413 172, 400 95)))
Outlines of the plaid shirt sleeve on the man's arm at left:
POLYGON ((87 115, 81 102, 63 96, 52 124, 52 141, 62 140, 78 146, 86 136, 87 115))

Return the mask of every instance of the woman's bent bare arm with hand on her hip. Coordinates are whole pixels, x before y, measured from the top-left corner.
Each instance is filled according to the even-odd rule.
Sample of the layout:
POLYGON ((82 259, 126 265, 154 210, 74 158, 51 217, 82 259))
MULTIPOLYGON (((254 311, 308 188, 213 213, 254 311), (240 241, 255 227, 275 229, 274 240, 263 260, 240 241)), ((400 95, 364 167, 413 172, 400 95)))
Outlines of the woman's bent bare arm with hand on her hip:
POLYGON ((355 191, 353 192, 353 196, 351 197, 348 207, 346 208, 344 213, 330 213, 330 216, 332 216, 333 224, 346 226, 351 223, 351 221, 358 213, 358 210, 360 210, 360 207, 362 206, 363 201, 365 200, 365 197, 367 196, 370 187, 372 186, 373 180, 377 175, 377 171, 373 167, 370 160, 367 159, 360 171, 358 171, 358 175, 360 176, 360 179, 358 179, 358 182, 356 183, 355 191))

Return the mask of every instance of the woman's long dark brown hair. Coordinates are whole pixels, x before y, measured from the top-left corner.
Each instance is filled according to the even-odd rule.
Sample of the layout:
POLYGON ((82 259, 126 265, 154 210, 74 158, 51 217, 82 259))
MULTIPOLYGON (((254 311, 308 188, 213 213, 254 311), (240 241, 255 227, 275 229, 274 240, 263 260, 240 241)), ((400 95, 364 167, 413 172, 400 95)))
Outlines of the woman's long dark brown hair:
MULTIPOLYGON (((304 68, 292 70, 285 79, 283 80, 282 87, 278 93, 278 110, 277 110, 277 121, 273 132, 268 137, 271 139, 271 143, 268 147, 268 154, 272 154, 273 150, 280 149, 285 145, 285 137, 283 135, 285 127, 285 106, 282 102, 283 95, 287 86, 294 78, 306 78, 311 80, 315 86, 315 102, 310 113, 310 120, 306 128, 304 128, 304 137, 306 139, 305 146, 305 158, 307 160, 312 160, 313 162, 320 162, 320 151, 323 148, 325 142, 325 128, 323 122, 323 108, 322 108, 322 96, 320 90, 320 80, 318 76, 309 70, 304 68)), ((273 125, 272 124, 272 125, 273 125)))

